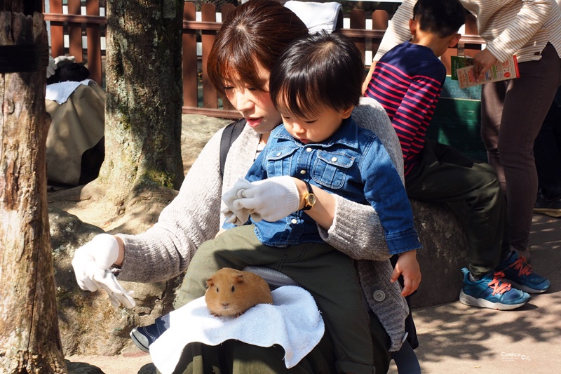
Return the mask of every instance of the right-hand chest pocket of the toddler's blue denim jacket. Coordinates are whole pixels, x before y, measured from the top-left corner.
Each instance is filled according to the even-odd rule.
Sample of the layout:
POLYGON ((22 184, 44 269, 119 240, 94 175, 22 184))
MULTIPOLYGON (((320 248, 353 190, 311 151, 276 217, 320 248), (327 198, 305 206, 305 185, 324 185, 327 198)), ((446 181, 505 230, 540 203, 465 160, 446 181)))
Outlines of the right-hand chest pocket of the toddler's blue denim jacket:
POLYGON ((342 152, 320 150, 313 163, 311 177, 319 185, 339 189, 349 179, 349 169, 355 158, 342 152))

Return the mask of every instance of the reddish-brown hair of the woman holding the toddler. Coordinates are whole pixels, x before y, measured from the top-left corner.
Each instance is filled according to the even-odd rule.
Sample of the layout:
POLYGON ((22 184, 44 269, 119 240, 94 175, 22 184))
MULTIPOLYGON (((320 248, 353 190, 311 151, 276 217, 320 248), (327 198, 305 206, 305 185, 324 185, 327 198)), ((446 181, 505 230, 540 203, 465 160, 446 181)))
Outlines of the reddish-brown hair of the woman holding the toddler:
POLYGON ((290 9, 275 0, 250 0, 238 6, 222 24, 208 57, 210 82, 224 98, 224 80, 241 79, 263 90, 261 65, 271 71, 278 55, 308 29, 290 9))

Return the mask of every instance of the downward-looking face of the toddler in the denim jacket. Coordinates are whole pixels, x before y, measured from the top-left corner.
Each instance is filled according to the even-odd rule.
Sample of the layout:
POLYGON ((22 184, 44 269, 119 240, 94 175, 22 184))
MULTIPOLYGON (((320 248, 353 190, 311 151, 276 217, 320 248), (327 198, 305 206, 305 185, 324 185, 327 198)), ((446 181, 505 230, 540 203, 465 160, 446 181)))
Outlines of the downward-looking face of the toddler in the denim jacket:
POLYGON ((322 107, 318 114, 313 114, 309 118, 302 118, 291 114, 287 110, 281 109, 280 115, 286 131, 295 139, 304 144, 320 143, 337 131, 343 119, 349 118, 353 108, 344 112, 337 112, 330 107, 322 107))

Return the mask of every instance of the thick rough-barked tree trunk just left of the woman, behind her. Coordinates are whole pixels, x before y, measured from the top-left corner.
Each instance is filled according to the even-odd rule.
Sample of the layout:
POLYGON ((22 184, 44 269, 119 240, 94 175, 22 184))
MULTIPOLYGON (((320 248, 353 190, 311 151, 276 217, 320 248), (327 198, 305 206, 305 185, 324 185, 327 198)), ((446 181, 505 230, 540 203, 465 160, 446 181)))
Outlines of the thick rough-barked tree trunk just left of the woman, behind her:
POLYGON ((145 187, 179 189, 184 178, 183 3, 107 1, 106 152, 96 183, 117 205, 145 187))

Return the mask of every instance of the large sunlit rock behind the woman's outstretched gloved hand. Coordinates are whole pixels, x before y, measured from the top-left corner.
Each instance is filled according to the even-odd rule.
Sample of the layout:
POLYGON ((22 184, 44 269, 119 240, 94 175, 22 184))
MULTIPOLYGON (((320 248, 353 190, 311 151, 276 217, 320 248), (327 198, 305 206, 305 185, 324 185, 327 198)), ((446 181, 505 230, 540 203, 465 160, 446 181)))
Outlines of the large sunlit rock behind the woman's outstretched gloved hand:
POLYGON ((135 291, 133 309, 113 307, 104 291, 81 290, 71 264, 74 251, 103 230, 57 208, 49 208, 49 222, 65 355, 119 354, 131 344, 128 334, 133 327, 153 323, 157 316, 172 310, 180 277, 160 283, 121 282, 126 290, 135 291))

